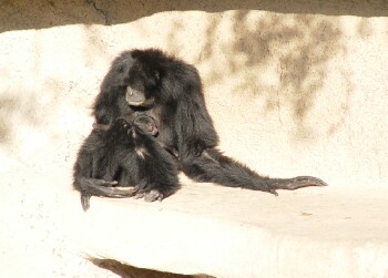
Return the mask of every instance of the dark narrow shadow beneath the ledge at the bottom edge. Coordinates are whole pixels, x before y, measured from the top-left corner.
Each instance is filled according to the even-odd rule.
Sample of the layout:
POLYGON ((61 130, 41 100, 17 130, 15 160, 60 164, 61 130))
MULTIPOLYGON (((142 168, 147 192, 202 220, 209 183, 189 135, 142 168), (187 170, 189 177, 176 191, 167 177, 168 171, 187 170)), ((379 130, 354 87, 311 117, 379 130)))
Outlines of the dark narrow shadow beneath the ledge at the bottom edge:
POLYGON ((96 259, 90 258, 95 266, 111 270, 112 272, 123 278, 212 278, 208 275, 177 275, 170 272, 162 272, 145 268, 136 268, 129 265, 121 264, 114 259, 96 259))

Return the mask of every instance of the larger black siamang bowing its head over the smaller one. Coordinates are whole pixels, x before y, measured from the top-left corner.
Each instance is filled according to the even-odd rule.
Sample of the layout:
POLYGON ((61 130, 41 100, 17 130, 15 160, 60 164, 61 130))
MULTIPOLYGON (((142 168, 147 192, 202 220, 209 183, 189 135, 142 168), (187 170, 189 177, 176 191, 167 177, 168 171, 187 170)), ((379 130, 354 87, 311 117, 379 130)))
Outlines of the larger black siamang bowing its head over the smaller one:
MULTIPOLYGON (((216 148, 218 136, 205 106, 197 70, 156 49, 125 51, 113 61, 94 102, 93 116, 96 124, 111 125, 118 119, 139 111, 155 119, 159 128, 155 141, 166 150, 173 150, 177 156, 175 162, 178 164, 178 169, 196 182, 212 182, 274 195, 277 195, 277 189, 294 191, 307 186, 327 185, 312 176, 293 178, 261 176, 245 165, 224 156, 216 148)), ((109 141, 108 137, 105 140, 109 141)), ((131 147, 126 148, 130 152, 131 147)), ((159 169, 162 165, 161 159, 154 157, 152 171, 159 169)), ((82 166, 91 168, 90 165, 82 166)), ((152 171, 147 173, 150 179, 152 171)), ((164 175, 170 179, 175 172, 166 172, 164 175)), ((82 187, 85 195, 95 195, 95 188, 105 187, 100 182, 90 183, 88 186, 82 187)), ((147 195, 153 196, 157 192, 159 199, 163 198, 166 186, 162 182, 150 183, 142 196, 150 199, 147 195)), ((175 187, 175 184, 171 184, 171 187, 175 187)), ((127 196, 118 188, 110 189, 116 196, 127 196)), ((110 197, 109 194, 104 196, 110 197)))

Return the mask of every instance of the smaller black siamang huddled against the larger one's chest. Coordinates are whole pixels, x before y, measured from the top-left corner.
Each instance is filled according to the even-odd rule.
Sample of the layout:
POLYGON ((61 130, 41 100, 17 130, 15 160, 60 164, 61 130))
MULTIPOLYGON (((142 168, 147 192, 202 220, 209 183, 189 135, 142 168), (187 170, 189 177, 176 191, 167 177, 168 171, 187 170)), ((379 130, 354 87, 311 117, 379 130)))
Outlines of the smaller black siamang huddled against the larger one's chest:
POLYGON ((74 165, 74 187, 81 192, 83 210, 88 210, 93 195, 139 198, 146 192, 145 200, 151 202, 177 188, 174 156, 153 137, 159 133, 155 120, 145 114, 134 115, 120 117, 112 125, 94 124, 81 146, 74 165))

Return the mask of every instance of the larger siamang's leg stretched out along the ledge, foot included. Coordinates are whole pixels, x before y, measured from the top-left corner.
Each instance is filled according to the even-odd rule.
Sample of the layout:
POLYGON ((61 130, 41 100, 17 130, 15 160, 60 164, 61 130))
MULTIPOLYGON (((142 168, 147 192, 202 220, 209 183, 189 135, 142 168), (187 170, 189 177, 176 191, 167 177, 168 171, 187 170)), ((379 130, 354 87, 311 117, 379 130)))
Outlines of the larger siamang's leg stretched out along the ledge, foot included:
POLYGON ((269 178, 261 176, 214 148, 205 150, 198 156, 183 159, 182 171, 197 182, 211 182, 229 187, 263 191, 274 195, 277 195, 276 189, 294 191, 307 186, 327 185, 321 179, 312 176, 298 176, 294 178, 269 178))

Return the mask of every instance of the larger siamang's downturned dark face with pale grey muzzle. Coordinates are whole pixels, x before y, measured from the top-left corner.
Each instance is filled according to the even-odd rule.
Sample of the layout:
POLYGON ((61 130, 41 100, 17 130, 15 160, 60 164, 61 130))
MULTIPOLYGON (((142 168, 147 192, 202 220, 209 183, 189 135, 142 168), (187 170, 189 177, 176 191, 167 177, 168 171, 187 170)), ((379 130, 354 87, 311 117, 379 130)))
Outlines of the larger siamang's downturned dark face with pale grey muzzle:
POLYGON ((125 100, 131 106, 152 107, 157 97, 159 72, 136 60, 125 78, 125 100))

